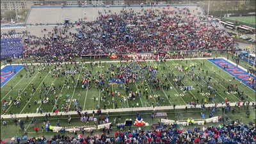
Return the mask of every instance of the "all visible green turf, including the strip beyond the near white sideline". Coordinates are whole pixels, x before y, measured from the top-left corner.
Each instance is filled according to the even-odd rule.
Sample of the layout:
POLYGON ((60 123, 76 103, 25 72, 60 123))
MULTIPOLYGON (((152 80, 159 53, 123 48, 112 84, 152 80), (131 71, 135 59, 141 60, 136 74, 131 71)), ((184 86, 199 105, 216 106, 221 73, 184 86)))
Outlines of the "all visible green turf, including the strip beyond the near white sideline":
MULTIPOLYGON (((113 61, 113 65, 118 65, 119 61, 113 61)), ((125 62, 126 64, 126 62, 125 62)), ((78 64, 77 64, 78 65, 78 64)), ((82 65, 82 64, 81 64, 82 65)), ((22 100, 20 101, 20 108, 17 108, 17 105, 12 104, 12 105, 7 105, 6 108, 6 114, 5 115, 9 115, 9 112, 12 111, 12 113, 15 114, 24 114, 26 115, 26 113, 36 113, 36 108, 42 108, 44 109, 44 111, 46 111, 47 113, 52 113, 52 110, 54 109, 54 104, 34 104, 35 100, 40 101, 39 99, 39 95, 40 95, 40 88, 42 87, 42 83, 43 81, 45 82, 45 84, 50 84, 52 83, 52 81, 54 81, 54 85, 56 86, 56 94, 55 95, 59 95, 60 91, 63 95, 63 98, 58 97, 58 105, 59 105, 59 109, 61 108, 61 104, 64 104, 64 106, 66 105, 66 103, 68 105, 70 105, 70 111, 74 111, 74 103, 72 102, 72 99, 77 99, 78 100, 78 104, 81 105, 83 111, 86 110, 90 110, 90 109, 96 109, 97 108, 97 104, 99 104, 100 108, 104 108, 104 104, 107 104, 107 109, 113 109, 115 108, 115 104, 118 105, 118 108, 122 108, 122 104, 124 104, 124 108, 131 108, 131 106, 135 106, 138 103, 139 107, 145 107, 145 104, 152 104, 152 102, 154 104, 156 104, 156 102, 159 102, 160 106, 173 106, 174 104, 176 106, 178 105, 185 105, 187 102, 191 102, 191 97, 193 95, 194 99, 193 101, 195 101, 196 99, 199 100, 200 103, 202 103, 202 99, 207 99, 207 104, 213 104, 215 102, 221 103, 223 101, 225 101, 225 97, 227 97, 228 100, 230 100, 230 102, 236 102, 238 100, 240 100, 239 95, 237 94, 237 92, 235 90, 232 90, 230 93, 224 93, 224 90, 227 91, 227 86, 228 83, 223 83, 223 79, 226 79, 226 81, 228 81, 229 79, 232 79, 232 76, 230 76, 229 74, 227 74, 226 72, 223 72, 223 70, 221 70, 220 68, 216 67, 215 65, 213 65, 210 61, 207 60, 188 60, 188 63, 186 63, 186 61, 180 61, 180 60, 171 60, 171 61, 167 61, 167 63, 159 63, 159 65, 157 64, 157 62, 153 61, 152 63, 150 63, 150 61, 146 61, 146 62, 140 62, 140 65, 147 65, 147 66, 152 66, 152 67, 158 67, 159 68, 159 73, 157 73, 157 78, 161 79, 161 81, 163 82, 164 79, 166 77, 163 77, 163 74, 167 76, 167 81, 166 84, 170 83, 170 86, 173 87, 172 90, 156 90, 156 88, 153 88, 151 84, 148 84, 147 81, 143 84, 143 88, 141 88, 141 92, 143 92, 144 90, 144 86, 147 84, 149 85, 148 87, 148 95, 152 95, 152 97, 150 99, 146 99, 145 95, 142 95, 141 98, 136 97, 135 100, 130 101, 129 99, 127 99, 126 102, 121 103, 120 102, 120 97, 115 96, 115 102, 114 104, 111 104, 111 99, 112 97, 108 97, 108 95, 106 95, 106 101, 102 101, 100 100, 101 97, 103 97, 103 93, 100 93, 100 90, 97 90, 97 88, 95 87, 94 84, 92 84, 92 88, 91 90, 85 90, 81 88, 81 77, 82 74, 80 73, 76 73, 75 75, 75 79, 80 79, 80 84, 76 86, 76 88, 72 88, 72 86, 70 86, 70 89, 67 90, 66 86, 63 86, 63 83, 65 82, 65 78, 64 77, 52 77, 51 74, 47 74, 47 70, 43 70, 43 72, 41 72, 41 74, 38 73, 38 67, 36 66, 35 68, 35 74, 33 74, 33 76, 31 78, 28 79, 20 79, 20 74, 23 74, 24 76, 26 75, 26 71, 24 70, 24 68, 22 70, 20 70, 20 72, 13 77, 12 79, 10 79, 10 81, 8 81, 8 83, 6 83, 3 88, 1 88, 1 100, 7 100, 10 101, 9 96, 12 95, 13 99, 18 99, 18 93, 19 93, 19 89, 21 89, 22 91, 22 100), (205 65, 200 66, 201 63, 205 63, 205 65), (186 77, 186 79, 180 83, 180 86, 182 84, 184 84, 185 86, 193 86, 193 88, 195 88, 195 90, 189 90, 189 92, 187 93, 183 93, 182 90, 180 90, 180 88, 176 88, 175 83, 173 82, 173 79, 175 76, 178 75, 182 75, 184 76, 184 72, 180 73, 178 72, 178 70, 175 69, 175 66, 179 66, 179 65, 183 65, 184 67, 189 67, 189 65, 191 64, 195 64, 197 68, 195 68, 195 74, 197 75, 199 73, 198 67, 200 67, 201 69, 204 69, 205 72, 206 70, 208 71, 209 74, 212 75, 212 83, 218 83, 218 81, 220 81, 221 83, 218 84, 218 92, 215 93, 217 95, 217 99, 213 100, 212 102, 210 102, 208 99, 209 97, 214 97, 214 94, 210 94, 205 80, 203 79, 203 77, 205 76, 206 78, 209 77, 209 75, 206 75, 205 72, 204 74, 202 74, 202 79, 200 81, 192 81, 191 77, 186 77), (197 66, 198 65, 198 66, 197 66), (165 69, 163 69, 163 67, 165 67, 165 69), (170 67, 170 68, 169 68, 170 67), (212 71, 212 67, 214 67, 214 69, 216 70, 216 74, 214 74, 214 72, 212 71), (172 73, 172 70, 174 72, 174 77, 169 77, 168 76, 168 72, 170 71, 172 73), (220 72, 219 72, 220 70, 220 72), (41 77, 41 79, 40 79, 41 77), (187 81, 187 82, 186 82, 187 81), (202 87, 202 82, 204 83, 204 87, 203 87, 203 92, 202 93, 197 93, 197 90, 200 90, 200 88, 202 87), (35 85, 36 88, 36 92, 33 92, 33 97, 30 97, 31 92, 31 83, 33 83, 35 85), (58 90, 58 85, 61 84, 61 89, 58 90), (198 84, 199 88, 196 87, 196 84, 198 84), (11 90, 10 86, 13 86, 13 90, 11 90), (152 93, 152 92, 153 93, 152 93), (27 96, 24 96, 24 92, 26 92, 27 96), (79 93, 81 93, 81 96, 79 97, 79 93), (65 95, 69 94, 70 97, 70 101, 66 102, 66 97, 65 95), (168 99, 168 95, 170 95, 170 99, 168 99), (94 100, 94 97, 96 98, 94 100), (159 98, 164 98, 164 102, 159 98), (28 101, 28 98, 31 98, 28 101), (110 102, 110 104, 108 105, 108 100, 110 102), (31 109, 28 109, 28 105, 31 104, 31 109)), ((47 65, 46 68, 53 68, 54 65, 47 65)), ((71 70, 74 70, 75 65, 68 65, 69 68, 71 68, 71 70)), ((97 65, 95 65, 93 67, 92 70, 92 76, 97 76, 97 73, 100 74, 104 74, 105 77, 109 77, 110 74, 107 74, 106 72, 108 71, 108 67, 109 67, 109 63, 104 63, 102 62, 99 67, 97 67, 97 65)), ((85 65, 83 65, 83 70, 85 71, 86 68, 91 68, 90 67, 90 63, 86 63, 85 65)), ((137 70, 140 70, 140 68, 138 68, 137 70)), ((116 68, 114 73, 116 72, 116 68)), ((202 73, 202 72, 201 72, 202 73)), ((147 77, 147 76, 145 76, 147 77)), ((70 78, 70 75, 68 76, 68 79, 70 78)), ((236 80, 237 84, 239 84, 239 81, 236 80)), ((132 89, 132 92, 138 91, 138 86, 141 86, 141 82, 138 81, 136 83, 131 83, 129 85, 129 88, 132 89)), ((109 91, 113 91, 115 92, 117 88, 117 85, 111 85, 109 88, 109 91)), ((241 91, 244 92, 244 94, 249 95, 249 99, 250 101, 255 101, 255 92, 249 88, 246 88, 244 86, 244 84, 239 85, 239 88, 241 91)), ((124 97, 127 97, 127 95, 125 95, 125 90, 124 87, 123 88, 119 88, 117 90, 117 92, 120 92, 120 95, 124 95, 124 97)), ((50 98, 50 100, 55 99, 55 95, 50 96, 51 93, 51 88, 50 90, 46 91, 47 96, 50 98)), ((44 95, 42 95, 42 99, 45 99, 44 95)), ((3 104, 2 104, 3 105, 3 104)), ((1 105, 1 106, 2 106, 1 105)), ((198 106, 200 107, 200 106, 198 106)), ((61 110, 60 110, 61 111, 61 110)), ((63 110, 62 110, 63 111, 63 110)), ((136 111, 136 108, 134 108, 134 111, 136 111)), ((206 110, 207 111, 207 110, 206 110)), ((224 115, 220 109, 218 109, 218 111, 216 111, 216 113, 214 113, 214 116, 227 116, 228 120, 234 120, 234 118, 241 118, 241 116, 243 117, 244 122, 250 122, 253 121, 253 119, 255 119, 255 115, 252 113, 255 113, 254 109, 250 109, 251 112, 251 117, 250 118, 246 118, 245 115, 245 111, 246 109, 241 109, 241 114, 237 115, 232 115, 231 112, 228 112, 227 115, 224 115)), ((160 111, 159 111, 160 112, 160 111)), ((202 118, 202 116, 200 115, 200 112, 204 112, 203 110, 200 109, 189 109, 188 113, 186 113, 184 110, 182 109, 176 109, 175 111, 171 111, 171 110, 163 110, 163 112, 168 113, 168 118, 169 119, 173 119, 173 120, 186 120, 188 119, 188 117, 193 117, 195 119, 197 118, 202 118), (175 118, 175 114, 179 112, 180 116, 178 118, 175 118)), ((148 122, 149 124, 154 124, 157 123, 157 118, 155 118, 154 120, 151 120, 150 118, 150 113, 151 111, 141 111, 141 116, 144 118, 144 120, 146 122, 148 122)), ((208 117, 207 114, 208 112, 204 112, 205 113, 205 117, 208 117)), ((111 116, 109 118, 110 122, 113 122, 113 118, 116 117, 116 115, 118 115, 119 113, 111 113, 111 116)), ((1 111, 1 115, 3 115, 3 111, 1 111)), ((136 117, 136 113, 132 112, 124 112, 122 113, 122 122, 125 120, 125 118, 131 118, 133 116, 133 120, 136 117)), ((66 116, 67 117, 67 116, 66 116)), ((93 122, 90 122, 89 124, 84 124, 83 122, 80 122, 79 118, 73 118, 73 117, 77 117, 77 116, 72 116, 72 126, 79 126, 79 125, 93 125, 93 122)), ((164 118, 164 116, 161 116, 159 118, 164 118)), ((38 123, 36 124, 39 128, 42 125, 43 122, 43 117, 38 117, 36 118, 38 120, 38 123)), ((59 116, 53 116, 51 118, 51 124, 52 125, 56 125, 56 122, 60 120, 59 116)), ((63 116, 63 120, 60 120, 61 125, 63 126, 67 126, 67 118, 65 118, 65 116, 63 116)), ((114 125, 115 126, 115 125, 114 125)), ((38 136, 38 134, 35 133, 35 131, 33 130, 33 127, 29 124, 25 125, 25 128, 28 127, 28 136, 38 136)), ((134 129, 134 128, 133 128, 134 129)), ((152 129, 151 127, 145 127, 145 129, 152 129)), ((3 127, 3 125, 1 125, 1 138, 12 138, 13 136, 17 135, 17 136, 22 136, 22 131, 19 131, 19 125, 15 126, 15 124, 13 124, 13 122, 10 122, 10 120, 8 120, 8 127, 3 127), (10 132, 5 132, 6 129, 12 129, 12 131, 10 132)), ((52 135, 52 132, 49 132, 48 134, 44 135, 52 135)))

